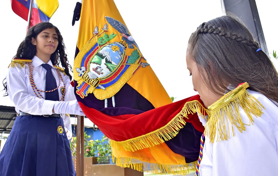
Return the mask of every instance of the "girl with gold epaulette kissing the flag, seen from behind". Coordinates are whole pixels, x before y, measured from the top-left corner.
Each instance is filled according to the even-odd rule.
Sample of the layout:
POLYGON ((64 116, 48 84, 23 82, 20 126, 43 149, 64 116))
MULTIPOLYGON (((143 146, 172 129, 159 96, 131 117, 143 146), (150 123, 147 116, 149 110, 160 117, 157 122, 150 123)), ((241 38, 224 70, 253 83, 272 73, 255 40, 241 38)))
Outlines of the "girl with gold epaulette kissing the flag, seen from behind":
POLYGON ((265 175, 278 164, 278 73, 271 60, 228 14, 192 33, 186 62, 208 108, 207 118, 199 117, 205 142, 196 174, 265 175))

